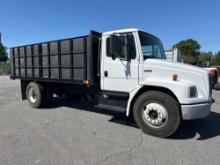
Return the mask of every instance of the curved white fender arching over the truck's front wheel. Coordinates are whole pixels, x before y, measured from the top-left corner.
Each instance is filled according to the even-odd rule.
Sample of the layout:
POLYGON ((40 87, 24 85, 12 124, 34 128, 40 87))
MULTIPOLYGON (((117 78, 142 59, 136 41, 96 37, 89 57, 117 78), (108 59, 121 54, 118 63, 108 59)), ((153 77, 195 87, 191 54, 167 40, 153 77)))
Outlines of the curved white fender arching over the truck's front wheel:
MULTIPOLYGON (((193 104, 193 103, 203 102, 205 100, 204 97, 205 94, 203 96, 200 95, 196 98, 189 97, 190 87, 195 86, 195 84, 191 81, 184 81, 184 80, 173 81, 168 78, 147 78, 144 81, 141 81, 139 85, 130 92, 127 108, 126 108, 126 116, 129 116, 130 114, 130 109, 131 109, 130 106, 137 93, 143 87, 147 87, 147 86, 165 88, 170 90, 176 96, 179 104, 193 104)), ((200 91, 199 93, 201 92, 202 91, 200 91)))

